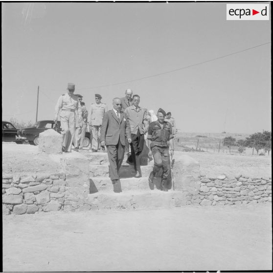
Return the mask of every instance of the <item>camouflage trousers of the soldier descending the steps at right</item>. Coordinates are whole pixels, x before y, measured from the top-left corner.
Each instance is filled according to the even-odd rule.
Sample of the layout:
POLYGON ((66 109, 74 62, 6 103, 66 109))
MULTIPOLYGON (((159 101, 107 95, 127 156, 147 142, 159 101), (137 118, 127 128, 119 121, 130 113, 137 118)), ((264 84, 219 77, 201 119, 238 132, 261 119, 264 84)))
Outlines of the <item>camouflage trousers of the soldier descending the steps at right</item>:
POLYGON ((163 169, 162 180, 167 180, 171 172, 169 148, 154 146, 151 151, 154 157, 154 175, 157 176, 160 169, 163 169))

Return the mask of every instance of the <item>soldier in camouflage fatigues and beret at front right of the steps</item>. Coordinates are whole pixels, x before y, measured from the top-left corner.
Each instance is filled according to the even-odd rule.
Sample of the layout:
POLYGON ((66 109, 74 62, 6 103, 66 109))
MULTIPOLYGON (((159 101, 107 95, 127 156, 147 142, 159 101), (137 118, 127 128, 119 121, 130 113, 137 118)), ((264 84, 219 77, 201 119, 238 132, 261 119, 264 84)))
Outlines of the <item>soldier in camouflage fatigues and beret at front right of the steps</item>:
POLYGON ((153 183, 154 177, 162 168, 163 173, 160 183, 160 190, 162 191, 168 191, 165 185, 171 172, 170 155, 173 156, 174 153, 172 125, 164 120, 165 115, 165 111, 159 108, 157 113, 158 120, 150 123, 147 137, 150 149, 149 156, 153 155, 154 157, 154 168, 150 173, 149 183, 153 183))

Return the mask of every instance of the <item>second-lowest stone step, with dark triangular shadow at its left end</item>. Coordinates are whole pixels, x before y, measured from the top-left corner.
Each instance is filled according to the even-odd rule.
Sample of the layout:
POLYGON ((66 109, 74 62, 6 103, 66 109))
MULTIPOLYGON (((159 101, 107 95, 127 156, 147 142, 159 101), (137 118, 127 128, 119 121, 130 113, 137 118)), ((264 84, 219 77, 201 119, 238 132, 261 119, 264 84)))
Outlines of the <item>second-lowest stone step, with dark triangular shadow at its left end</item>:
MULTIPOLYGON (((122 192, 130 190, 148 191, 159 190, 161 178, 154 178, 153 184, 150 185, 148 177, 141 178, 121 178, 117 185, 118 189, 122 192)), ((172 184, 168 182, 167 188, 171 189, 172 184)), ((110 178, 108 177, 92 177, 90 178, 90 193, 96 192, 113 192, 114 186, 110 178)))

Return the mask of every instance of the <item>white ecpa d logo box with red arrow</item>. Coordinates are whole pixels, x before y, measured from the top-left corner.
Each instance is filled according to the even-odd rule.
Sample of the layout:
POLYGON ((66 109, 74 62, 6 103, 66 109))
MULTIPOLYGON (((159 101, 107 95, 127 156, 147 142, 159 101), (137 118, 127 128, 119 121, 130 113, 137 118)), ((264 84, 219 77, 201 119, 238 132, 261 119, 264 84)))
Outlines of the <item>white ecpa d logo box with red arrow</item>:
POLYGON ((269 20, 269 4, 227 4, 227 20, 269 20))

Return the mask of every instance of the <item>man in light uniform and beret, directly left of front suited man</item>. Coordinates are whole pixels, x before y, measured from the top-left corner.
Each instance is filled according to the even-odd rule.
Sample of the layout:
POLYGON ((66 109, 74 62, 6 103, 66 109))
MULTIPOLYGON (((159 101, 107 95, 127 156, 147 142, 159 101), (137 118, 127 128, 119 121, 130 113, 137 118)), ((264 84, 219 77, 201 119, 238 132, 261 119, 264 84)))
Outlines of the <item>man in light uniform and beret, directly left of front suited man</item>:
MULTIPOLYGON (((102 124, 103 115, 108 111, 107 105, 101 102, 102 96, 95 94, 95 103, 91 103, 90 112, 88 115, 88 124, 92 130, 92 152, 97 152, 100 148, 100 128, 102 124)), ((101 146, 105 151, 105 147, 101 146)))

